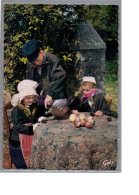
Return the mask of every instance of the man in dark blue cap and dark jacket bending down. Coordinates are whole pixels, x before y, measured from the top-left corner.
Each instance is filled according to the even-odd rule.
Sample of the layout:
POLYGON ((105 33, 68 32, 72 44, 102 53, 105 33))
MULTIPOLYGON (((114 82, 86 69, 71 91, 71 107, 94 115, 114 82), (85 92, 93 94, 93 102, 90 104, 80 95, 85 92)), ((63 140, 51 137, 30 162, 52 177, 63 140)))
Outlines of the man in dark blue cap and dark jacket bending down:
POLYGON ((52 100, 66 98, 66 72, 59 64, 58 58, 40 50, 36 39, 25 43, 22 47, 23 56, 28 58, 28 79, 37 81, 37 92, 43 91, 45 107, 52 100))

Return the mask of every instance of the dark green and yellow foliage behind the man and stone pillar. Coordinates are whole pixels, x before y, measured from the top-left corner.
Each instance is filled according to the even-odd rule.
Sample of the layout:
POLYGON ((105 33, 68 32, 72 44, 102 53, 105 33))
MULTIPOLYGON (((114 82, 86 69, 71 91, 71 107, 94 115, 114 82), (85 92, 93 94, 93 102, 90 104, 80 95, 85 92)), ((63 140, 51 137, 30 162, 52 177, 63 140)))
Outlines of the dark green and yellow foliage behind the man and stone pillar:
MULTIPOLYGON (((118 80, 118 6, 116 5, 33 5, 6 4, 4 7, 4 87, 11 94, 26 78, 27 59, 21 48, 32 38, 41 49, 60 59, 68 74, 76 69, 74 52, 67 50, 74 24, 88 20, 106 43, 106 87, 118 80), (64 49, 61 49, 62 47, 64 49), (74 64, 74 66, 73 66, 74 64)), ((76 76, 76 74, 75 74, 76 76)), ((71 86, 74 87, 74 86, 71 86)), ((116 88, 117 89, 117 88, 116 88)), ((106 90, 109 94, 111 90, 106 90)), ((114 90, 117 96, 116 90, 114 90)), ((110 94, 111 95, 111 94, 110 94)), ((117 102, 115 103, 117 107, 117 102)))

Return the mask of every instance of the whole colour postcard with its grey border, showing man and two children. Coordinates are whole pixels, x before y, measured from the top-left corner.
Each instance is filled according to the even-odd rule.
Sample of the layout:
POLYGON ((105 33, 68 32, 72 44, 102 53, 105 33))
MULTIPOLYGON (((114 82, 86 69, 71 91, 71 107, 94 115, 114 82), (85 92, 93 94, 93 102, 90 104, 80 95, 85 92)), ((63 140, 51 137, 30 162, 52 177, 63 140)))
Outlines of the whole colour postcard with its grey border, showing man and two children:
POLYGON ((121 171, 120 1, 2 1, 1 171, 121 171))

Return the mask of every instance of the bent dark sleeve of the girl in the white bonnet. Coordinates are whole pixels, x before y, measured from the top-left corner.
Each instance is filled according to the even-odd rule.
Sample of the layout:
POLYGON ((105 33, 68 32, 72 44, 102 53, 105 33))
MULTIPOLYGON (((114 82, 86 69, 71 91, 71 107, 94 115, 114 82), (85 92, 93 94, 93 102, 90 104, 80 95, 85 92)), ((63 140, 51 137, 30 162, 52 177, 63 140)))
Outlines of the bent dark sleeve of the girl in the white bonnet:
POLYGON ((12 122, 13 122, 13 131, 16 131, 22 134, 27 134, 27 135, 34 134, 33 126, 25 126, 22 111, 19 110, 17 107, 15 107, 12 110, 11 117, 12 117, 12 122))

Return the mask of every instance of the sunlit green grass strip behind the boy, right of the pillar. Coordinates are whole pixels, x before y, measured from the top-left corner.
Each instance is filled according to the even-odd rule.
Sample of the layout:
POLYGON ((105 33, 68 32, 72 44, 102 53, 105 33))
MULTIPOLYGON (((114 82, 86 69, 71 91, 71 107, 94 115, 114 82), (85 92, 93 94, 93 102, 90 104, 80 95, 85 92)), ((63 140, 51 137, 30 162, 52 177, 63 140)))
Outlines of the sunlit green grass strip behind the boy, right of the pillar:
POLYGON ((115 77, 111 79, 106 79, 106 96, 112 99, 111 111, 113 117, 118 117, 117 107, 118 107, 118 81, 115 77))

